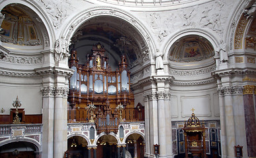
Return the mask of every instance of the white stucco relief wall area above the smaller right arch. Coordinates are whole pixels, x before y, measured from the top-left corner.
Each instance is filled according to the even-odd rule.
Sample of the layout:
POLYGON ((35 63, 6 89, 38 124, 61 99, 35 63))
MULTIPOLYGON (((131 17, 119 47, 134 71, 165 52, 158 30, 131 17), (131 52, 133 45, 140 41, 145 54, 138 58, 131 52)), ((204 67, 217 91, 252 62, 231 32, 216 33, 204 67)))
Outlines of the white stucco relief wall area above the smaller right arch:
POLYGON ((222 37, 224 25, 228 19, 227 12, 230 11, 233 5, 232 3, 226 3, 230 3, 230 1, 212 1, 181 9, 179 12, 175 10, 166 11, 164 14, 146 13, 146 19, 155 36, 158 36, 159 42, 163 41, 169 34, 172 34, 172 30, 191 26, 209 28, 222 37))

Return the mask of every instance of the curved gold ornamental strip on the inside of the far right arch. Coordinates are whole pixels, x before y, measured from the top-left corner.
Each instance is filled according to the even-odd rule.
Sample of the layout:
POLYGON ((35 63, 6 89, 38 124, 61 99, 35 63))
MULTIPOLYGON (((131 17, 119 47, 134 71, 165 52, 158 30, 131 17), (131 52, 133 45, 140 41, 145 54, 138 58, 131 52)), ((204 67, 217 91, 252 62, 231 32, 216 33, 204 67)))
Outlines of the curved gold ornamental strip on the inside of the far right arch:
POLYGON ((239 23, 237 24, 237 28, 235 30, 235 40, 234 40, 234 47, 235 49, 242 48, 242 41, 243 41, 243 32, 245 31, 245 27, 247 25, 247 18, 244 14, 242 14, 239 23))

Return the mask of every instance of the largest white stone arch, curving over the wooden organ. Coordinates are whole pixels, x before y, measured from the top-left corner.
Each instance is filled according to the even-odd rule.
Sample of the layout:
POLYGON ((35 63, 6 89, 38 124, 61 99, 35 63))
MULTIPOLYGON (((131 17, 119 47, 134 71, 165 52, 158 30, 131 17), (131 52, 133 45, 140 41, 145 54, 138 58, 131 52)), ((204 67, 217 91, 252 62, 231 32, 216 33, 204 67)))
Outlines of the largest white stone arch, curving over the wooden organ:
POLYGON ((70 44, 69 42, 71 41, 71 38, 73 37, 77 29, 79 29, 80 26, 87 22, 87 20, 90 20, 97 16, 113 16, 128 22, 138 31, 142 39, 144 39, 145 45, 144 47, 142 47, 141 52, 147 50, 149 51, 148 57, 145 58, 145 62, 152 62, 154 60, 153 53, 155 50, 155 44, 153 43, 153 38, 149 34, 147 28, 130 13, 120 11, 119 9, 116 9, 114 7, 95 7, 93 9, 88 9, 76 14, 73 20, 71 20, 71 22, 69 22, 69 24, 65 26, 64 30, 62 30, 60 36, 60 45, 65 45, 65 47, 62 48, 64 54, 67 54, 69 52, 67 46, 70 44))

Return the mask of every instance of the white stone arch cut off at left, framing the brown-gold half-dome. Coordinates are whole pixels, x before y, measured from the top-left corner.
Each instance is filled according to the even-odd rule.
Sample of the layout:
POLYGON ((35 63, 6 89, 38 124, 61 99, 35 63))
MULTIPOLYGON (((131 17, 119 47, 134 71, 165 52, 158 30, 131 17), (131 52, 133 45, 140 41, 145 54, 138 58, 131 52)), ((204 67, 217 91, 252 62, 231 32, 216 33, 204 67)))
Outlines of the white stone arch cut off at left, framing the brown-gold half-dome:
POLYGON ((0 2, 0 11, 6 7, 7 5, 11 5, 13 3, 24 5, 26 7, 29 7, 36 15, 38 16, 38 22, 42 23, 45 27, 45 29, 42 29, 42 36, 43 36, 43 41, 44 41, 44 49, 49 49, 51 47, 54 47, 54 29, 52 24, 50 24, 50 18, 48 15, 44 12, 42 7, 38 5, 35 1, 31 0, 24 0, 24 1, 2 1, 0 2))

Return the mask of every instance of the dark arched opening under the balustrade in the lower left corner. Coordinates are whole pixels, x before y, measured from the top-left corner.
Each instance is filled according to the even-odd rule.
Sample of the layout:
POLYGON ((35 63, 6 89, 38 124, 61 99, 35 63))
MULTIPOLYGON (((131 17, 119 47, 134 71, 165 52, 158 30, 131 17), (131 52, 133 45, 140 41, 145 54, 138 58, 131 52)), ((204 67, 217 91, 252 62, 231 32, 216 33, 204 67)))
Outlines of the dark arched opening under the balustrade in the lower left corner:
POLYGON ((30 142, 11 142, 0 147, 0 157, 34 158, 38 147, 30 142))

